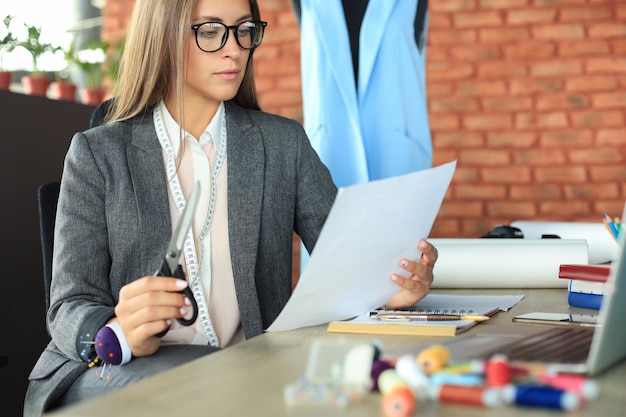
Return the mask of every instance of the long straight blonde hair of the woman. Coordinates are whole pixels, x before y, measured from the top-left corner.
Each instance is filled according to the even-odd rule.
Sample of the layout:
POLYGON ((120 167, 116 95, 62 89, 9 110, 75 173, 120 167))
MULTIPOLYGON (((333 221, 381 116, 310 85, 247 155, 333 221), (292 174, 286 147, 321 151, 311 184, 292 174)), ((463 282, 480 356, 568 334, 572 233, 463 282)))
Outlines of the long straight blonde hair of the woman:
MULTIPOLYGON (((253 20, 261 15, 257 0, 250 1, 253 20)), ((198 0, 137 0, 120 57, 115 98, 106 122, 126 120, 153 109, 169 94, 177 96, 184 114, 184 48, 193 36, 191 19, 198 0)), ((239 107, 260 110, 252 65, 253 51, 243 81, 231 100, 239 107)))

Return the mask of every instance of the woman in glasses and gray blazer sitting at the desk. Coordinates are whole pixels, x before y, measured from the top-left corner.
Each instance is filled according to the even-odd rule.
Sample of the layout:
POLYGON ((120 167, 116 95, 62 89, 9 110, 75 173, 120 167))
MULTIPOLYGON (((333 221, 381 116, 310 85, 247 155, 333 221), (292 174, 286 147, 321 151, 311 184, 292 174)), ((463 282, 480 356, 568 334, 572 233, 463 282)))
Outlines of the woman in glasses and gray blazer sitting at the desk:
MULTIPOLYGON (((76 134, 66 156, 52 341, 25 415, 257 336, 284 307, 292 234, 313 248, 336 188, 301 125, 259 111, 251 57, 264 27, 256 0, 136 2, 107 122, 76 134), (189 284, 154 277, 195 181, 202 196, 181 257, 189 284), (189 327, 174 320, 189 312, 186 286, 201 312, 189 327), (132 353, 110 380, 88 368, 107 324, 132 353)), ((419 262, 400 261, 409 278, 392 276, 390 307, 428 292, 437 252, 419 250, 419 262)))

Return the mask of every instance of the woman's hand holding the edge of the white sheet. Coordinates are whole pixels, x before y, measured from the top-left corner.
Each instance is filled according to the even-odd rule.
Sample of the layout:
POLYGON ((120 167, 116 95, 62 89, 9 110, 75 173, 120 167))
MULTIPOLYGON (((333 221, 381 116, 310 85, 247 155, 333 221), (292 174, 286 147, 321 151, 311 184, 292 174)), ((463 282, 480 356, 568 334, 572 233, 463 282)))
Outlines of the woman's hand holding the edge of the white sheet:
POLYGON ((438 256, 437 249, 425 240, 420 240, 417 248, 422 252, 419 261, 400 259, 400 267, 411 276, 405 278, 398 274, 391 275, 391 280, 401 289, 385 304, 385 307, 391 309, 410 307, 430 291, 430 285, 433 283, 433 268, 438 256))

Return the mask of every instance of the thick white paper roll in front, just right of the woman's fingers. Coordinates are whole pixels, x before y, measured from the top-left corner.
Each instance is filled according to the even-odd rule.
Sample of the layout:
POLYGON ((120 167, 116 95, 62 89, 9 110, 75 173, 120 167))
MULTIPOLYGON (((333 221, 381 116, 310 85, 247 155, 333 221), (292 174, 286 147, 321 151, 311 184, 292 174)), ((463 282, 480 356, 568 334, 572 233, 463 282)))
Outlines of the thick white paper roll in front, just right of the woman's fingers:
POLYGON ((566 288, 561 264, 587 264, 582 239, 428 239, 439 253, 432 288, 566 288))

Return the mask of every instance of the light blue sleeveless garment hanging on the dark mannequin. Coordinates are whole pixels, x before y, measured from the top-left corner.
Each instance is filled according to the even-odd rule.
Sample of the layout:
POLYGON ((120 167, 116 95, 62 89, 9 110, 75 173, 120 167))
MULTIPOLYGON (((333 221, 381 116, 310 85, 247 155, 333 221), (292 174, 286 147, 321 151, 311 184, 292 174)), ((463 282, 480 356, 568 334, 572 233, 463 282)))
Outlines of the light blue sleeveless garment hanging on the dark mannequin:
POLYGON ((339 187, 432 164, 417 5, 369 0, 356 83, 341 0, 300 1, 304 127, 339 187))

